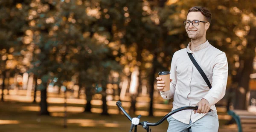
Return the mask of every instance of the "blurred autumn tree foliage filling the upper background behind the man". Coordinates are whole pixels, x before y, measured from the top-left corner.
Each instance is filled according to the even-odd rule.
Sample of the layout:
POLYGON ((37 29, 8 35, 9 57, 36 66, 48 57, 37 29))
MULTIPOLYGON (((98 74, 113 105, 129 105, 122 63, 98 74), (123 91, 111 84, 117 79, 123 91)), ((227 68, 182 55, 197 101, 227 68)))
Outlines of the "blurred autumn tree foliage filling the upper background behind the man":
POLYGON ((119 77, 131 75, 134 66, 148 79, 152 66, 168 70, 173 53, 189 43, 182 23, 188 9, 206 6, 212 12, 207 39, 226 52, 235 77, 240 60, 255 54, 255 5, 250 0, 172 2, 1 0, 1 58, 44 83, 57 77, 62 85, 75 77, 90 87, 108 80, 113 71, 119 77))

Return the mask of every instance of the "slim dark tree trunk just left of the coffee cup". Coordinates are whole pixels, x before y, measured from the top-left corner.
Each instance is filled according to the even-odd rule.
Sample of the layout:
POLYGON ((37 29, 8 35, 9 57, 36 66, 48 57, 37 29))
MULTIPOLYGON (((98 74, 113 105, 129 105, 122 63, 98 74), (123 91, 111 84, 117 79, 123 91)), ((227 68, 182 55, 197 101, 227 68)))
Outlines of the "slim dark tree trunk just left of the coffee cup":
POLYGON ((150 78, 150 106, 149 106, 149 116, 153 116, 153 100, 154 100, 154 80, 155 80, 155 73, 157 71, 156 69, 156 63, 157 63, 157 54, 154 53, 154 60, 153 60, 153 67, 152 67, 152 73, 150 78))

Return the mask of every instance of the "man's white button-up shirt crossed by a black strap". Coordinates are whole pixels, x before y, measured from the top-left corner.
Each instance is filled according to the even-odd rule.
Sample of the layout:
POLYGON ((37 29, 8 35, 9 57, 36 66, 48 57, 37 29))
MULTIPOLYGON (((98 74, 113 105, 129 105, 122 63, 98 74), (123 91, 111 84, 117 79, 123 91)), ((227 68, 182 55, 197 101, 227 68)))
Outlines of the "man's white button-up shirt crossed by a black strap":
MULTIPOLYGON (((183 106, 195 106, 201 99, 208 100, 211 109, 216 110, 217 103, 225 95, 228 76, 228 64, 226 54, 213 47, 208 40, 196 47, 194 52, 187 48, 175 52, 172 57, 170 90, 160 92, 163 99, 173 98, 173 108, 183 106), (203 69, 209 79, 212 88, 209 89, 201 74, 190 60, 187 52, 193 57, 203 69)), ((192 110, 183 110, 172 115, 178 121, 189 124, 197 121, 206 114, 195 113, 192 110)))

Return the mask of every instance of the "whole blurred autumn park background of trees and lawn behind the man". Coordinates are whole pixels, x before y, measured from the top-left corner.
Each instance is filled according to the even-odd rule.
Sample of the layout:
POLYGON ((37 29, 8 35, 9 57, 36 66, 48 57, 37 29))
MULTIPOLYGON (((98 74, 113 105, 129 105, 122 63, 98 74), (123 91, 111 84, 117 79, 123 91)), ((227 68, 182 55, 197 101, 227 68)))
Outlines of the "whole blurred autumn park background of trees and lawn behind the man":
POLYGON ((118 100, 132 117, 157 122, 172 100, 155 78, 190 42, 183 21, 192 6, 211 11, 207 40, 228 58, 219 131, 237 130, 227 110, 256 112, 255 2, 1 0, 0 132, 128 132, 118 100))

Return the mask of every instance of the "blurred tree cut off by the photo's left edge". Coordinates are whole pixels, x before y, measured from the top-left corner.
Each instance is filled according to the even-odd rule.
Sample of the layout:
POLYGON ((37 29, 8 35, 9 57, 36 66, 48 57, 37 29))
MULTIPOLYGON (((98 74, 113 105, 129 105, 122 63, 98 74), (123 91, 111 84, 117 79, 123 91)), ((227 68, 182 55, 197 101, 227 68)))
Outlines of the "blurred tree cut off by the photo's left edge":
MULTIPOLYGON (((26 11, 29 8, 29 0, 24 0, 23 4, 19 0, 2 0, 0 1, 0 11, 4 12, 0 15, 0 71, 3 75, 2 91, 5 88, 6 74, 13 74, 13 72, 25 72, 23 64, 17 60, 22 50, 23 36, 22 27, 26 24, 26 11), (20 64, 21 66, 17 68, 20 64)), ((3 92, 2 98, 3 101, 3 92)))

